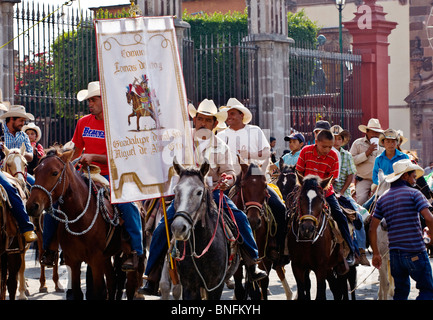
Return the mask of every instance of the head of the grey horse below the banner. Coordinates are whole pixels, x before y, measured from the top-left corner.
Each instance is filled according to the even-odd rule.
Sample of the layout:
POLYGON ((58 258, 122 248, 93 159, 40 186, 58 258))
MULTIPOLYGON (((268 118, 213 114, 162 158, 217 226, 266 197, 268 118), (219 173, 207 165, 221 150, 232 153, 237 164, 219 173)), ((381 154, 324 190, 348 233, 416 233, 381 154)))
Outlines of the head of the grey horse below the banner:
POLYGON ((173 166, 179 175, 179 182, 174 188, 174 209, 175 215, 171 224, 173 237, 179 241, 189 239, 191 230, 198 220, 202 218, 203 204, 209 203, 210 194, 206 189, 204 177, 209 171, 209 163, 205 162, 200 169, 185 169, 173 160, 173 166))

